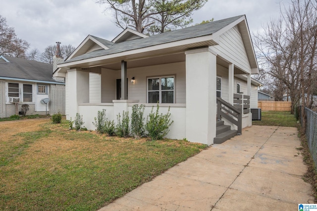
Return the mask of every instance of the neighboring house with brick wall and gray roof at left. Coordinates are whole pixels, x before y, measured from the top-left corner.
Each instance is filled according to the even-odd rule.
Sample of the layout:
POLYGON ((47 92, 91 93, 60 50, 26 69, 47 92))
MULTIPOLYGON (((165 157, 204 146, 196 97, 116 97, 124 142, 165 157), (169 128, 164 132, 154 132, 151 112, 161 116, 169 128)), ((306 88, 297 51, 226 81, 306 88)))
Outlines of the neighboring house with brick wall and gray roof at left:
MULTIPOLYGON (((54 56, 58 59, 62 60, 54 56)), ((21 111, 23 104, 29 105, 26 115, 65 114, 65 82, 53 78, 53 66, 0 55, 0 118, 16 114, 16 106, 21 111), (47 105, 41 103, 45 98, 50 99, 47 105)))

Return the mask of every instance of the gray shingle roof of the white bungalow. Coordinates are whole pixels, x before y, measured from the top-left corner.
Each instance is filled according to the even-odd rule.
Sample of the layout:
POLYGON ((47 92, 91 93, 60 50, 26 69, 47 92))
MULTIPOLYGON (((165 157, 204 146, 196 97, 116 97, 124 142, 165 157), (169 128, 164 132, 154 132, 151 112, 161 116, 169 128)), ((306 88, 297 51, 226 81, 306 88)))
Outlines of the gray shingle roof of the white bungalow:
MULTIPOLYGON (((181 41, 181 40, 186 40, 191 38, 212 35, 218 30, 224 28, 230 23, 241 18, 242 16, 244 15, 239 15, 239 16, 235 16, 231 18, 213 21, 211 23, 200 24, 197 26, 192 26, 192 27, 179 29, 179 30, 175 30, 171 32, 165 32, 162 34, 153 35, 149 38, 135 39, 135 40, 129 40, 129 41, 119 42, 119 43, 113 43, 113 42, 107 41, 106 43, 108 45, 110 45, 110 43, 113 43, 109 49, 100 49, 100 50, 95 50, 89 53, 85 53, 83 55, 71 58, 63 63, 80 61, 84 59, 89 59, 89 58, 94 58, 98 56, 104 56, 104 55, 109 55, 109 54, 124 52, 128 50, 144 48, 144 47, 150 47, 150 46, 164 44, 168 42, 176 42, 176 41, 181 41)), ((94 37, 94 38, 98 39, 97 37, 94 37)), ((100 39, 100 40, 103 40, 103 39, 100 39)), ((103 41, 105 42, 106 40, 103 40, 103 41)))

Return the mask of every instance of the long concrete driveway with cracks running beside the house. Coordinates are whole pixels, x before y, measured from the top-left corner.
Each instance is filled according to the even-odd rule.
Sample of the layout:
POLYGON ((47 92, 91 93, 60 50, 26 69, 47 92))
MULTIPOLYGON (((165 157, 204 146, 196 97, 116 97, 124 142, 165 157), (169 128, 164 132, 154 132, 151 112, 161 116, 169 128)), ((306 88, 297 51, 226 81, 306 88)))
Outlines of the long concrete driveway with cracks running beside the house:
POLYGON ((295 127, 252 126, 100 211, 298 210, 314 203, 295 127))

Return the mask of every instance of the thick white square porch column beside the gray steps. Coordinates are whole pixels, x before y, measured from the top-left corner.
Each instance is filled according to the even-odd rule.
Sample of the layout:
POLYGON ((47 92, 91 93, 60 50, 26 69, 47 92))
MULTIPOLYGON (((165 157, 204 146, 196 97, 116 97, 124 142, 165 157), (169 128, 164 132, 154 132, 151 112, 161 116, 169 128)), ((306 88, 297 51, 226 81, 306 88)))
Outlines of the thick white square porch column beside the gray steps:
POLYGON ((210 48, 186 54, 186 138, 212 144, 216 136, 216 53, 210 48))

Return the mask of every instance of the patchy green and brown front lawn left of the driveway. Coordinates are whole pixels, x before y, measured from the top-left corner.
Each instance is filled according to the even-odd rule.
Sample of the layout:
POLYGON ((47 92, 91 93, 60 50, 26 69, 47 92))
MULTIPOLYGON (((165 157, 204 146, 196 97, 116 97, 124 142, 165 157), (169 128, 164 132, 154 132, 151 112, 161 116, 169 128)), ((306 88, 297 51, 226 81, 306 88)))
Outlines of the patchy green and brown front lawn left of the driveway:
POLYGON ((0 210, 98 210, 206 147, 76 132, 48 120, 0 139, 0 210))

